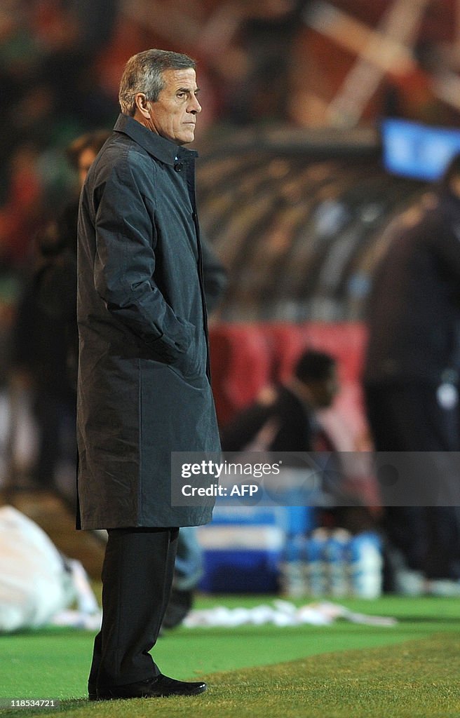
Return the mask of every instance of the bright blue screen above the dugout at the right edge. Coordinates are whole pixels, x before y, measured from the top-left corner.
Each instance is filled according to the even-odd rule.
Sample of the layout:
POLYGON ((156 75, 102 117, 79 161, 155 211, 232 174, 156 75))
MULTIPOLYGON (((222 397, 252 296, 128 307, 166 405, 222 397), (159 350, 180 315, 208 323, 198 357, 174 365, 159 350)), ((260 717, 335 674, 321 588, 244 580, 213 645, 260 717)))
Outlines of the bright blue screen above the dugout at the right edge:
POLYGON ((460 152, 460 130, 407 120, 381 123, 383 164, 388 172, 416 180, 436 181, 460 152))

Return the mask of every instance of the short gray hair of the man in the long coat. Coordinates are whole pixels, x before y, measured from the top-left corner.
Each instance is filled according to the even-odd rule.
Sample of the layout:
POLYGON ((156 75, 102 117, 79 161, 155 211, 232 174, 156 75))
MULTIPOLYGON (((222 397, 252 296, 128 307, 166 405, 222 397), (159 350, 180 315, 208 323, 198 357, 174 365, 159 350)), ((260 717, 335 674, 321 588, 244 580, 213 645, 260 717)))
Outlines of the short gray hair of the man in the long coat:
POLYGON ((144 93, 147 100, 156 102, 164 88, 165 70, 194 70, 197 63, 188 55, 169 50, 144 50, 130 57, 120 81, 118 101, 125 115, 136 112, 136 95, 144 93))

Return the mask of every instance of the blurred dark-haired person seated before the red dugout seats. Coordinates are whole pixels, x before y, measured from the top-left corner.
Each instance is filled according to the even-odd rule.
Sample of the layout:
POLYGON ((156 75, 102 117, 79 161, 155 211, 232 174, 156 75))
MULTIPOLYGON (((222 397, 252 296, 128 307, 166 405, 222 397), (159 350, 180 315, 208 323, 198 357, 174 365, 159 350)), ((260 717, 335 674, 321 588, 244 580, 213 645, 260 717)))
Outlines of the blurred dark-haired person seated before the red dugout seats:
MULTIPOLYGON (((352 532, 373 528, 360 490, 352 485, 354 462, 343 462, 334 436, 320 415, 334 404, 339 392, 337 361, 328 353, 306 350, 288 381, 264 388, 256 401, 221 429, 222 450, 292 452, 283 465, 304 466, 302 452, 316 452, 316 466, 324 464, 321 491, 329 508, 319 508, 321 525, 341 526, 352 532)), ((350 446, 347 454, 353 451, 350 446)))

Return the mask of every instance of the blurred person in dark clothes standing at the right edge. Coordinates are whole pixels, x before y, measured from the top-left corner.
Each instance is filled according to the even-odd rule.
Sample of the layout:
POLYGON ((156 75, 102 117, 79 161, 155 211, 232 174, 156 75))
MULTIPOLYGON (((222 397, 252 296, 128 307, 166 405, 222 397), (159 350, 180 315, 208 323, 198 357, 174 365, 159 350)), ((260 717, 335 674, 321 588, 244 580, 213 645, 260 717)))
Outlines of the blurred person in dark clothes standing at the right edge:
POLYGON ((414 452, 405 454, 419 476, 414 503, 426 488, 417 480, 441 497, 438 506, 385 508, 389 588, 423 592, 431 579, 435 590, 460 593, 460 471, 452 454, 460 451, 460 155, 436 191, 400 218, 375 272, 367 325, 364 386, 375 449, 414 452))

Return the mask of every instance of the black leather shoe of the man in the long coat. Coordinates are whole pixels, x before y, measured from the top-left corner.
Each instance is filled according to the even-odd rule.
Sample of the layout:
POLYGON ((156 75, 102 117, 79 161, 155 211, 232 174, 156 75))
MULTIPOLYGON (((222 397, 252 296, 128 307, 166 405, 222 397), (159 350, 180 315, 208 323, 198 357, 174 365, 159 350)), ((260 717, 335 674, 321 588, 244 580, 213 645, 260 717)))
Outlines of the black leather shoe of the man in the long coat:
MULTIPOLYGON (((98 689, 98 701, 111 701, 116 698, 167 698, 168 696, 197 696, 207 689, 207 685, 176 681, 160 673, 153 679, 130 683, 127 686, 111 686, 98 689)), ((90 694, 91 696, 92 694, 90 694)), ((94 700, 90 697, 90 700, 94 700)))

